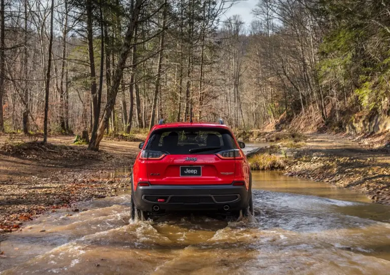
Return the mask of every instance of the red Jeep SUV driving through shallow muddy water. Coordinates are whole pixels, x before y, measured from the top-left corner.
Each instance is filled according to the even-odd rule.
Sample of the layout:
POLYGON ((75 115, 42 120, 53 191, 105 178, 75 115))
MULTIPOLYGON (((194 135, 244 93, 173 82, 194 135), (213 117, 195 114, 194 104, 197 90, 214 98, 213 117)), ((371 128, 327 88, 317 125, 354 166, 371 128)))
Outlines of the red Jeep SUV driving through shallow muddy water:
POLYGON ((211 123, 155 125, 134 163, 131 218, 170 211, 253 213, 248 161, 232 130, 211 123))

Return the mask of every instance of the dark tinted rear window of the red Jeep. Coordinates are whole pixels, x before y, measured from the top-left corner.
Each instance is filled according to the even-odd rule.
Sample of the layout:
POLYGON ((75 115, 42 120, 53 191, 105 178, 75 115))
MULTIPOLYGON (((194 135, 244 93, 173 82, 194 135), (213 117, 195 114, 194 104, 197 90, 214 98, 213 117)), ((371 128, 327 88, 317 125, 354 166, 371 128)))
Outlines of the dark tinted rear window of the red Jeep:
POLYGON ((146 149, 170 154, 210 154, 237 149, 237 145, 226 129, 181 127, 153 131, 146 149))

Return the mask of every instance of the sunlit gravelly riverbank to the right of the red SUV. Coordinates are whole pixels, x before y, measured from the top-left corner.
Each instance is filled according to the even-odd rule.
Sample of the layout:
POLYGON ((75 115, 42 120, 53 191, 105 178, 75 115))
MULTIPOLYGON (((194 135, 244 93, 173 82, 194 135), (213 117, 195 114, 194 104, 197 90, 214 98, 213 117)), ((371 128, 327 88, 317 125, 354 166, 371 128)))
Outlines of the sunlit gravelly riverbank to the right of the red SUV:
MULTIPOLYGON (((363 192, 375 203, 390 205, 389 149, 327 134, 307 135, 301 145, 271 146, 271 154, 286 163, 277 167, 284 168, 285 175, 350 188, 363 192)), ((269 154, 269 148, 264 150, 269 154)))

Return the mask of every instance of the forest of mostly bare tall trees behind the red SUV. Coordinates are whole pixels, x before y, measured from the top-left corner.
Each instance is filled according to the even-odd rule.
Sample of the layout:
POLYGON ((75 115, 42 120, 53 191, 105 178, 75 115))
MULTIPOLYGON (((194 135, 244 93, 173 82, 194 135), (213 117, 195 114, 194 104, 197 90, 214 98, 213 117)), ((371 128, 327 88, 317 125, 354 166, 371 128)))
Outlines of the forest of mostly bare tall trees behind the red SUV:
POLYGON ((0 131, 105 133, 167 122, 343 131, 390 115, 390 1, 0 0, 0 131))

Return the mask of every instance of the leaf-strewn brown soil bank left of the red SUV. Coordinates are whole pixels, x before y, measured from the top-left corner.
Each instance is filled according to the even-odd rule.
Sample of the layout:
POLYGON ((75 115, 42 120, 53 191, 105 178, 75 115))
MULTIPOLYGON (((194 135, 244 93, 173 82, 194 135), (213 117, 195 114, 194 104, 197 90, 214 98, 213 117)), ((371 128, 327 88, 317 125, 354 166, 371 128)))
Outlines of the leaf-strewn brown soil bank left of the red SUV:
POLYGON ((103 141, 100 152, 92 152, 72 145, 73 139, 50 137, 43 145, 35 137, 0 136, 0 233, 19 230, 46 211, 128 188, 138 142, 103 141))

